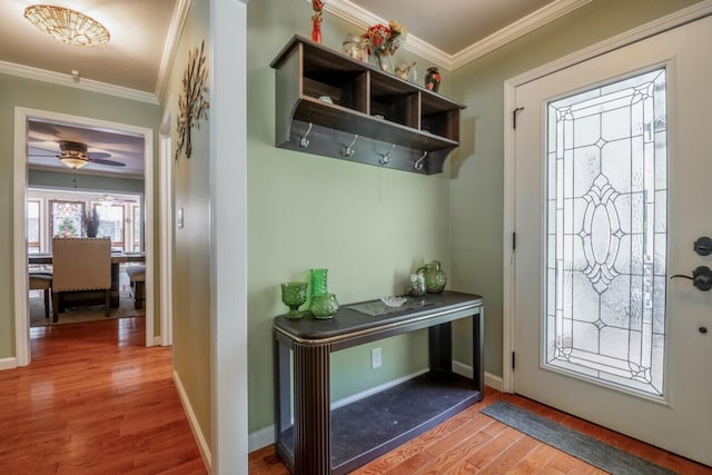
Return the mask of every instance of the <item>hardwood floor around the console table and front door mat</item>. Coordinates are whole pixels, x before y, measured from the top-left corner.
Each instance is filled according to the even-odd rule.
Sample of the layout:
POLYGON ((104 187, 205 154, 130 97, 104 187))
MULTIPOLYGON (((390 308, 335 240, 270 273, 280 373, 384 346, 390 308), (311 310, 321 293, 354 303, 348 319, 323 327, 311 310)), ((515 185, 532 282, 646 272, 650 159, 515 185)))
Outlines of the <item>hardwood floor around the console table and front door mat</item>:
MULTIPOLYGON (((491 388, 487 388, 483 403, 469 407, 353 473, 356 475, 605 474, 585 462, 479 413, 482 407, 497 399, 517 404, 676 473, 712 474, 710 467, 530 399, 491 388)), ((275 455, 274 445, 270 445, 249 454, 249 473, 251 475, 287 475, 289 471, 275 455)))

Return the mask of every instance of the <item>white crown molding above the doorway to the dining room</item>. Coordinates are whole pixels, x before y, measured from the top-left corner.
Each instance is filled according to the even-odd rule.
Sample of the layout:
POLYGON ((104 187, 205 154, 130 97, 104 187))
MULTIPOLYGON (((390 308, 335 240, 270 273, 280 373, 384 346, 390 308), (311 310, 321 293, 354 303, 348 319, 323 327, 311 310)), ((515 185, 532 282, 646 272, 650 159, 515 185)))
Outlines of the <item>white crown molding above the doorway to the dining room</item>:
POLYGON ((137 89, 122 88, 107 82, 95 81, 92 79, 75 79, 71 75, 62 75, 46 69, 32 68, 30 66, 16 65, 13 62, 0 61, 0 73, 18 76, 20 78, 33 79, 36 81, 51 82, 58 86, 83 89, 91 92, 99 92, 116 96, 123 99, 137 100, 158 105, 158 99, 151 92, 139 91, 137 89))

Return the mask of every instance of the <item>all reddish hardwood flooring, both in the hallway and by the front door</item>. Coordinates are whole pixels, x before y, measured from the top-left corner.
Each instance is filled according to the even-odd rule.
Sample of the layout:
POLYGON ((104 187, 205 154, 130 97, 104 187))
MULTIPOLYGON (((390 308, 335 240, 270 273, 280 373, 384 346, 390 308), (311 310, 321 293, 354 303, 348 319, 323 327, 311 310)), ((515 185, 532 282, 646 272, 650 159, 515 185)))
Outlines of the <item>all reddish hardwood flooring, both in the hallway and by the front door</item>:
MULTIPOLYGON (((31 329, 30 366, 0 372, 0 474, 207 473, 171 379, 169 348, 146 348, 142 318, 31 329)), ((485 400, 360 467, 373 474, 600 474, 479 408, 504 398, 685 475, 712 468, 528 399, 485 400)), ((274 446, 253 475, 288 474, 274 446)))

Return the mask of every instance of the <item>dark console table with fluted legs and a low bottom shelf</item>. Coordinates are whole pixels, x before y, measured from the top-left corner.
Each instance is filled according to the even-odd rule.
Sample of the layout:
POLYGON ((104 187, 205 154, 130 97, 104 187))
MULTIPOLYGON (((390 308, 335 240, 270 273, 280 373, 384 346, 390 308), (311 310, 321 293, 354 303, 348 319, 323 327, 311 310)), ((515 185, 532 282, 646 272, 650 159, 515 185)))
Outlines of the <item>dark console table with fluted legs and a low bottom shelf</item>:
POLYGON ((275 445, 297 475, 348 473, 484 396, 484 309, 476 295, 446 290, 409 297, 394 309, 379 300, 345 305, 326 320, 308 313, 300 319, 279 316, 273 333, 275 445), (472 317, 472 379, 452 370, 452 321, 466 317, 472 317), (332 353, 424 328, 427 373, 330 407, 332 353))

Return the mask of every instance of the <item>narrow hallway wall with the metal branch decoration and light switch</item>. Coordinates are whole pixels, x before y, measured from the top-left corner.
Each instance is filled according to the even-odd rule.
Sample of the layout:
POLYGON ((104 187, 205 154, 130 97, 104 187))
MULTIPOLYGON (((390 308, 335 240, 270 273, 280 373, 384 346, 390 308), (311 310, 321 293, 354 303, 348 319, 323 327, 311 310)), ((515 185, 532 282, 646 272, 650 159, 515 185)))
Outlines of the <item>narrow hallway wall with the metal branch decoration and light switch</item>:
MULTIPOLYGON (((188 51, 200 48, 209 59, 209 2, 192 1, 180 34, 161 103, 169 110, 170 133, 178 147, 176 120, 178 97, 188 51)), ((209 73, 209 68, 208 68, 209 73)), ((209 88, 209 79, 206 85, 209 88)), ((209 101, 209 89, 206 90, 209 101)), ((210 120, 210 110, 208 110, 210 120)), ((174 205, 184 210, 184 227, 174 227, 172 324, 174 369, 178 375, 201 435, 211 447, 210 400, 210 184, 208 179, 208 125, 205 119, 191 130, 192 155, 185 152, 174 162, 174 205)))

